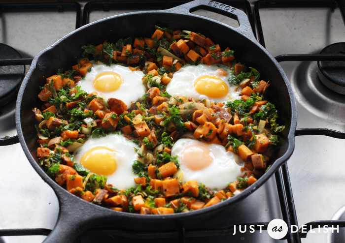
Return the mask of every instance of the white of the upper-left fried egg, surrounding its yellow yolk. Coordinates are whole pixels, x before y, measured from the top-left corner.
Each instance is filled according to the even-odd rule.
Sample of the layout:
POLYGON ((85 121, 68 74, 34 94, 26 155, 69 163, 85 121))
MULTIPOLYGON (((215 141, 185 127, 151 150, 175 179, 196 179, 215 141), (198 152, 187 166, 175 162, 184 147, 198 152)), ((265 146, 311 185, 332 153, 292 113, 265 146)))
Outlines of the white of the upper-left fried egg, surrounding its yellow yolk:
POLYGON ((85 75, 85 79, 78 82, 78 85, 83 91, 91 93, 96 91, 105 95, 106 99, 116 98, 120 99, 127 105, 127 109, 131 107, 132 102, 137 101, 146 92, 145 86, 142 84, 144 73, 142 71, 132 71, 129 67, 111 64, 110 66, 104 64, 94 64, 91 71, 85 75), (122 76, 123 83, 116 91, 100 92, 93 86, 96 77, 105 72, 113 72, 122 76))

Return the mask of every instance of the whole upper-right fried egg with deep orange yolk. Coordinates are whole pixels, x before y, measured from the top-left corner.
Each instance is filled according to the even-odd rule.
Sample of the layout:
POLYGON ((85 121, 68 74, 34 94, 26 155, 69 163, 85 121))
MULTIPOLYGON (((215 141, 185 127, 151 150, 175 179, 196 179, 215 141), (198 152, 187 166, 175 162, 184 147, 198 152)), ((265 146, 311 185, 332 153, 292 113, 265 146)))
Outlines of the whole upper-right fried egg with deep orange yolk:
POLYGON ((241 99, 236 86, 230 86, 228 79, 232 76, 228 66, 199 64, 184 66, 173 74, 167 86, 171 95, 197 100, 209 99, 215 102, 241 99))

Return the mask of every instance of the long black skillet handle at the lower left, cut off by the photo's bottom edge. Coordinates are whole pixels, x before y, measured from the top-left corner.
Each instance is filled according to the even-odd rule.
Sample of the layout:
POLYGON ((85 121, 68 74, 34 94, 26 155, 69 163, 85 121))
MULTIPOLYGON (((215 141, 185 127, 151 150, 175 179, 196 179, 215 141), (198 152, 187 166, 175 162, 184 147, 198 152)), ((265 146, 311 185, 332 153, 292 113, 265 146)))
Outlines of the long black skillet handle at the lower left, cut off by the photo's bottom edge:
POLYGON ((102 207, 81 201, 67 191, 62 192, 63 188, 55 189, 60 205, 58 221, 43 243, 73 243, 90 224, 109 216, 109 212, 102 207))

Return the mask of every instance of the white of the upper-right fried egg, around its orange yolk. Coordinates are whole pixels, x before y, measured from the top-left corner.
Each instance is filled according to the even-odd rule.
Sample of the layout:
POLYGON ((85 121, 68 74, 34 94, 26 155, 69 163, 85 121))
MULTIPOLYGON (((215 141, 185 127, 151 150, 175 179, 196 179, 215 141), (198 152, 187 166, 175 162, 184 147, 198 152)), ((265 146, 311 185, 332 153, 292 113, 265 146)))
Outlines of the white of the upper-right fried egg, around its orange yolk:
POLYGON ((170 95, 177 95, 185 98, 193 97, 197 100, 209 99, 215 102, 226 102, 241 99, 240 91, 235 90, 236 86, 229 85, 228 79, 232 76, 231 72, 232 71, 228 66, 218 66, 216 64, 199 64, 197 66, 186 65, 173 74, 171 82, 167 85, 167 92, 170 95), (218 68, 224 70, 228 74, 226 76, 222 76, 221 73, 217 71, 218 68), (194 83, 198 77, 204 75, 216 76, 223 80, 229 88, 228 94, 222 98, 211 98, 205 94, 198 93, 194 88, 194 83))

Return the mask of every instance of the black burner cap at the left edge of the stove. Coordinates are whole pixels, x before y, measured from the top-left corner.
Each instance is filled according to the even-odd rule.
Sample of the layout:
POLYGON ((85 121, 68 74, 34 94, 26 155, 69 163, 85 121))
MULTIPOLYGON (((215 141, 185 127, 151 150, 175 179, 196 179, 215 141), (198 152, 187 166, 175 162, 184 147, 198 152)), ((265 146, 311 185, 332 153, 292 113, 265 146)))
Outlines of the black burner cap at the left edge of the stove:
MULTIPOLYGON (((12 47, 0 43, 0 59, 20 59, 22 56, 12 47)), ((24 78, 25 65, 0 66, 0 106, 17 97, 24 78)))

